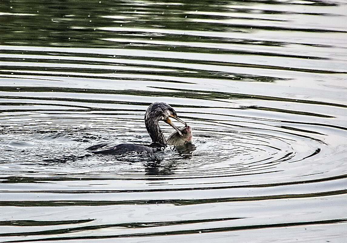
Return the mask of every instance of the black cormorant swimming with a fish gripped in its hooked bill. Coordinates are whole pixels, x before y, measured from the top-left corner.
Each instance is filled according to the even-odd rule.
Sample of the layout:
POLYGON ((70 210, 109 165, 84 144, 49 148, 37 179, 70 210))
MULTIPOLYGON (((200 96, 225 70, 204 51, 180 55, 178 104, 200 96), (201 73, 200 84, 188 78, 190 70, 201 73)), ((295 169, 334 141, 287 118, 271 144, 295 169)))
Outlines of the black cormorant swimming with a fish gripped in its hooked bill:
POLYGON ((95 154, 122 154, 127 152, 154 153, 160 151, 166 147, 167 142, 159 127, 159 121, 166 122, 182 135, 181 131, 171 122, 170 117, 187 126, 187 123, 177 117, 176 111, 171 106, 167 103, 155 102, 147 108, 145 113, 145 125, 152 139, 150 145, 103 142, 92 145, 86 149, 95 154))

